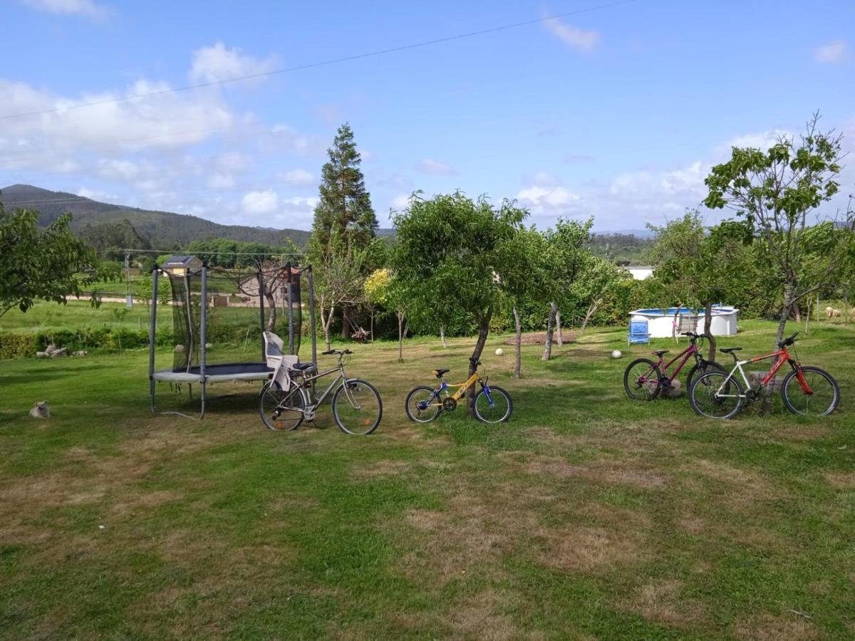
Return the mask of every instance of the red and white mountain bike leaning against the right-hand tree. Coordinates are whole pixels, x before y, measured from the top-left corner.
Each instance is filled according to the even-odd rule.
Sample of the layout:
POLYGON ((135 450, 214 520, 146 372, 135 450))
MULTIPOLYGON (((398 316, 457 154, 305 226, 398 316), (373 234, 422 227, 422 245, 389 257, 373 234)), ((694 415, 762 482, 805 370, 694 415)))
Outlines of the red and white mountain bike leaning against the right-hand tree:
POLYGON ((803 367, 798 355, 795 355, 795 350, 793 350, 794 357, 787 351, 787 347, 795 343, 798 335, 799 332, 795 332, 789 338, 782 340, 778 343, 778 349, 771 354, 755 356, 747 361, 740 361, 734 353, 741 350, 741 347, 719 350, 723 354, 733 356, 736 364, 730 373, 708 372, 695 380, 689 390, 689 403, 692 409, 701 416, 716 419, 733 418, 745 407, 746 401, 755 403, 760 399, 764 387, 769 385, 769 381, 775 378, 775 374, 786 362, 792 368, 781 382, 781 397, 787 409, 793 414, 806 416, 826 416, 834 412, 840 403, 840 387, 837 381, 823 369, 803 367), (775 362, 772 363, 772 367, 769 368, 769 372, 765 374, 757 389, 754 389, 748 382, 742 366, 767 358, 775 358, 775 362), (737 371, 742 374, 742 379, 745 381, 744 389, 740 380, 734 375, 737 371))

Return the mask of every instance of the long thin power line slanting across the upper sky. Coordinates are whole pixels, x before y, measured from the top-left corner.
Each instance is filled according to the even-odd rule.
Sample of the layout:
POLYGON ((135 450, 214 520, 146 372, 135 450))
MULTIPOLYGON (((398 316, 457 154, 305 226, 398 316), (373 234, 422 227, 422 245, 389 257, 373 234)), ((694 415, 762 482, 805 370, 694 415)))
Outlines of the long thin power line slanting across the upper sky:
POLYGON ((487 33, 495 33, 500 31, 507 31, 508 29, 516 29, 520 26, 528 26, 535 25, 541 22, 547 22, 551 20, 558 20, 560 18, 566 18, 570 15, 580 15, 590 13, 592 11, 598 11, 600 9, 610 9, 611 7, 617 7, 622 4, 629 4, 637 2, 637 0, 618 0, 613 3, 605 3, 598 4, 595 7, 588 7, 587 9, 575 9, 574 11, 567 11, 563 14, 557 15, 549 15, 544 18, 535 18, 534 20, 527 20, 521 22, 512 22, 506 25, 500 26, 492 26, 488 29, 479 29, 478 31, 466 32, 466 33, 457 33, 453 36, 446 36, 445 38, 433 38, 432 40, 423 40, 422 42, 411 43, 411 44, 402 44, 398 47, 389 47, 388 49, 380 49, 375 51, 369 51, 367 53, 355 54, 353 56, 343 56, 340 58, 332 58, 330 60, 325 60, 322 62, 310 62, 309 64, 298 65, 296 67, 286 67, 281 69, 273 69, 271 71, 265 71, 259 74, 249 74, 245 76, 238 76, 236 78, 229 78, 223 80, 213 80, 211 82, 203 82, 198 85, 185 85, 182 87, 175 87, 174 89, 162 89, 160 91, 150 91, 148 93, 140 93, 134 96, 125 96, 119 98, 109 98, 107 100, 97 100, 92 101, 90 103, 79 103, 69 105, 68 107, 57 107, 54 109, 42 109, 40 111, 25 111, 19 114, 9 114, 0 116, 0 121, 10 120, 12 118, 24 118, 26 116, 31 115, 46 115, 46 114, 56 114, 61 111, 68 111, 71 109, 83 109, 85 107, 95 107, 97 105, 102 104, 115 104, 115 103, 125 103, 130 100, 137 100, 139 98, 147 98, 154 96, 162 96, 168 93, 177 93, 178 91, 191 91, 192 89, 202 89, 203 87, 217 86, 217 85, 227 85, 232 82, 240 82, 242 80, 251 80, 257 78, 263 78, 272 75, 278 74, 290 74, 295 71, 304 71, 305 69, 314 69, 318 67, 327 67, 329 65, 339 64, 340 62, 351 62, 353 60, 362 60, 363 58, 370 58, 374 56, 386 56, 386 54, 396 53, 398 51, 405 51, 410 49, 420 49, 422 47, 428 47, 433 44, 443 44, 446 42, 453 42, 455 40, 463 40, 465 38, 475 38, 476 36, 483 36, 487 33))

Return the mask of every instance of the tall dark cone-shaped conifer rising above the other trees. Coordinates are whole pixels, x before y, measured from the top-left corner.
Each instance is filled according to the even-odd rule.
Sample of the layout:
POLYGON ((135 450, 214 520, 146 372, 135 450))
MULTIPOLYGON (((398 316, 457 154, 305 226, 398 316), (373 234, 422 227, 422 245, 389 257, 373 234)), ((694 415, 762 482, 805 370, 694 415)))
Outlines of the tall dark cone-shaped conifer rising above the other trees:
POLYGON ((329 253, 332 238, 364 247, 374 238, 378 226, 359 167, 362 157, 349 123, 339 127, 327 153, 329 161, 321 170, 321 200, 315 207, 309 241, 309 253, 315 260, 329 253))

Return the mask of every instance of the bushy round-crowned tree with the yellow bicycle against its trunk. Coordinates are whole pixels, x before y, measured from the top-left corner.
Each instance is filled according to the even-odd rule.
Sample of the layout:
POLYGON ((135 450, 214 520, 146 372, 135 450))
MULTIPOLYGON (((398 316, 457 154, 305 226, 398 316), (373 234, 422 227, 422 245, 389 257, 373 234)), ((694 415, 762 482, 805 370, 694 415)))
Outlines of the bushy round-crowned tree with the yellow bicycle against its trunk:
MULTIPOLYGON (((475 321, 478 338, 469 360, 475 373, 493 312, 504 296, 504 278, 514 255, 511 241, 528 213, 504 201, 493 208, 486 198, 477 201, 457 191, 423 200, 419 194, 395 215, 392 272, 399 291, 416 309, 429 311, 446 324, 458 310, 475 321)), ((474 415, 474 390, 469 415, 474 415)))

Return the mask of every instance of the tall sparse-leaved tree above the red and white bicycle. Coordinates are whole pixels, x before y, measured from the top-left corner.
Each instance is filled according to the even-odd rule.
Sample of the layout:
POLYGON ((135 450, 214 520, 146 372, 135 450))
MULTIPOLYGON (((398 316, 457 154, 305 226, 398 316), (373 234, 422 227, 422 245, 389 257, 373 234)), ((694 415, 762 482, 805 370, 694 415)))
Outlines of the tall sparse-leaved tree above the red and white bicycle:
MULTIPOLYGON (((712 168, 705 179, 709 194, 704 204, 735 210, 747 232, 761 241, 763 267, 783 290, 776 343, 799 299, 822 288, 844 263, 851 238, 831 235, 822 253, 806 251, 817 208, 839 191, 843 156, 840 134, 821 132, 818 125, 815 114, 798 144, 781 136, 765 152, 734 147, 730 160, 712 168)), ((851 205, 835 219, 836 226, 851 228, 851 205)))

